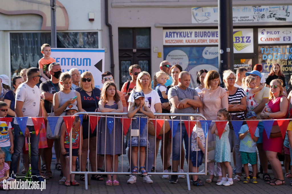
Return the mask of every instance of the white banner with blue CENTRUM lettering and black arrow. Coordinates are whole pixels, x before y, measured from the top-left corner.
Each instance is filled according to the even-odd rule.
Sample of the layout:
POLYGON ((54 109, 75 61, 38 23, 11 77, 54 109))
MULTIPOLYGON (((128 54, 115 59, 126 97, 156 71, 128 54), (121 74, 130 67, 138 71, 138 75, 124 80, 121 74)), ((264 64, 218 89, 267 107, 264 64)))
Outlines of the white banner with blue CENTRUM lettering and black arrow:
POLYGON ((63 72, 72 68, 77 68, 79 73, 90 71, 94 78, 94 86, 102 88, 101 74, 105 70, 104 49, 51 48, 51 57, 61 65, 63 72))

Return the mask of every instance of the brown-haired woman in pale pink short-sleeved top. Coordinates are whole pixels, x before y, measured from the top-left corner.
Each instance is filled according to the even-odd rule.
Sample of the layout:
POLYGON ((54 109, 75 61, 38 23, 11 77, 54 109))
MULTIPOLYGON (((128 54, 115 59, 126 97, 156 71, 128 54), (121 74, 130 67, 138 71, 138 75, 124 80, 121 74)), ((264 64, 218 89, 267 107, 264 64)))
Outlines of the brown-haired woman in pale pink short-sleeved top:
MULTIPOLYGON (((207 120, 215 121, 217 118, 217 112, 220 109, 226 108, 228 111, 228 95, 227 91, 219 87, 219 73, 215 70, 211 70, 207 73, 204 79, 205 88, 200 92, 200 99, 202 106, 199 108, 199 112, 203 113, 207 120)), ((213 126, 211 124, 210 127, 213 126)), ((208 142, 215 141, 215 135, 211 134, 211 130, 208 130, 208 142)), ((209 178, 206 179, 207 183, 211 183, 214 179, 214 163, 208 163, 209 178)), ((221 167, 217 163, 218 181, 222 179, 221 167)))

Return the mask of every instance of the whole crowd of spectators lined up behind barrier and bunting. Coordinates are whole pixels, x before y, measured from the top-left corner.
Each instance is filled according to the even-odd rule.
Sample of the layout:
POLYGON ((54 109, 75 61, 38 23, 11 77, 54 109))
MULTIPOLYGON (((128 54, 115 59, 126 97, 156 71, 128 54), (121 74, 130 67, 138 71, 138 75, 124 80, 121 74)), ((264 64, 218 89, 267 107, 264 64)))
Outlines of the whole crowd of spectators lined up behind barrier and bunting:
MULTIPOLYGON (((268 184, 285 184, 281 163, 277 157, 283 150, 285 177, 291 178, 288 166, 292 156, 292 122, 289 123, 286 138, 283 139, 277 119, 290 118, 288 105, 292 102, 292 94, 286 93, 285 79, 279 64, 273 64, 266 80, 260 73, 262 70, 260 64, 255 65, 251 72, 245 68, 238 68, 236 73, 225 70, 223 72, 225 88, 219 86, 220 75, 215 70, 200 70, 197 74, 199 87, 191 88, 189 87, 191 76, 187 71, 183 71, 180 65, 172 66, 168 61, 162 61, 160 71, 155 73, 153 80, 139 65, 132 65, 129 67, 131 80, 125 82, 121 91, 118 91, 111 72, 106 71, 102 74, 103 88, 98 89, 94 87, 91 72, 80 74, 77 68, 72 68, 69 72, 62 73, 60 64, 50 57, 50 45, 44 44, 41 50, 44 57, 39 61, 39 68, 22 69, 20 76, 13 78, 13 90, 9 88, 9 78, 0 75, 2 83, 0 117, 15 117, 9 123, 0 121, 0 186, 4 179, 13 181, 16 178, 16 174, 19 173, 19 158, 23 157, 22 173, 27 172, 28 152, 25 143, 27 137, 30 137, 31 142, 31 166, 32 174, 36 175, 35 181, 52 178, 50 167, 54 145, 55 168, 61 171, 62 176, 59 184, 79 186, 74 174, 69 174, 71 128, 72 169, 87 171, 88 158, 91 171, 97 172, 91 179, 97 181, 103 181, 98 172, 117 172, 118 156, 126 154, 126 147, 129 147, 127 154, 131 165, 128 172, 131 172, 131 175, 127 183, 135 183, 139 172, 143 176, 143 182, 153 183, 148 172, 156 171, 160 140, 161 161, 165 173, 184 170, 198 172, 207 149, 205 141, 215 145, 214 160, 207 165, 208 178, 202 181, 193 175, 191 180, 194 186, 213 182, 215 165, 217 185, 230 186, 242 178, 245 184, 249 182, 257 184, 261 170, 263 180, 268 184), (267 107, 270 107, 270 110, 267 107), (46 126, 49 125, 47 117, 51 114, 71 116, 77 112, 127 112, 128 118, 132 118, 131 130, 124 134, 120 117, 111 117, 110 114, 107 117, 100 117, 98 125, 90 128, 89 117, 84 115, 82 119, 75 117, 69 130, 65 122, 60 123, 60 127, 55 128, 55 131, 59 131, 59 138, 46 137, 46 126), (137 113, 144 116, 135 116, 137 113), (157 136, 147 133, 147 126, 149 127, 151 123, 148 120, 146 124, 146 121, 156 118, 153 113, 197 113, 213 122, 209 126, 208 138, 205 139, 200 122, 196 122, 192 134, 188 135, 187 126, 182 121, 199 121, 201 120, 199 116, 190 118, 172 116, 171 119, 182 121, 179 122, 177 130, 169 130, 157 136), (25 121, 20 119, 21 117, 28 117, 25 130, 22 130, 22 122, 25 121), (32 117, 45 118, 40 128, 36 128, 32 117), (232 120, 256 119, 275 119, 269 138, 262 121, 258 122, 254 131, 245 122, 239 133, 233 130, 232 120), (223 125, 220 126, 214 121, 222 121, 223 125), (143 122, 145 125, 141 128, 143 122), (138 130, 138 133, 131 134, 133 129, 138 130), (39 133, 32 134, 30 133, 32 131, 39 133), (20 132, 23 132, 23 135, 20 132), (232 140, 234 147, 231 151, 232 140), (233 170, 230 165, 231 153, 234 160, 233 170), (257 165, 258 155, 261 170, 257 165), (189 169, 183 169, 185 161, 189 169), (272 166, 274 179, 267 172, 268 163, 272 166), (252 172, 249 172, 248 164, 251 164, 252 172), (245 177, 241 177, 243 172, 245 177), (9 174, 12 175, 11 178, 8 177, 9 174), (232 174, 235 174, 234 178, 232 174)), ((290 165, 292 166, 292 163, 290 165)), ((170 183, 177 183, 178 178, 184 177, 168 174, 162 176, 163 179, 169 179, 170 183)), ((85 180, 84 175, 80 175, 80 180, 85 180)), ((105 184, 119 185, 117 175, 109 173, 105 184)), ((292 186, 292 180, 290 185, 292 186)))

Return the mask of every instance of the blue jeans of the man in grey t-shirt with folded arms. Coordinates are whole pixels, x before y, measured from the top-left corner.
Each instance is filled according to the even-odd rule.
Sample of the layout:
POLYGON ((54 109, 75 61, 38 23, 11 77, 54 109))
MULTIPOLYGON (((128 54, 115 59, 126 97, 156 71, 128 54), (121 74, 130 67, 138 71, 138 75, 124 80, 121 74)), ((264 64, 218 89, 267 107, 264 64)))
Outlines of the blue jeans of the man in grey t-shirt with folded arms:
MULTIPOLYGON (((192 137, 192 135, 190 135, 192 137)), ((172 160, 180 160, 180 150, 181 147, 183 147, 183 140, 185 141, 185 158, 186 159, 192 159, 192 155, 189 153, 189 150, 191 150, 191 143, 190 139, 187 136, 187 130, 185 128, 185 124, 178 124, 178 128, 175 131, 175 135, 172 138, 172 160)), ((151 146, 151 144, 150 144, 151 146)))

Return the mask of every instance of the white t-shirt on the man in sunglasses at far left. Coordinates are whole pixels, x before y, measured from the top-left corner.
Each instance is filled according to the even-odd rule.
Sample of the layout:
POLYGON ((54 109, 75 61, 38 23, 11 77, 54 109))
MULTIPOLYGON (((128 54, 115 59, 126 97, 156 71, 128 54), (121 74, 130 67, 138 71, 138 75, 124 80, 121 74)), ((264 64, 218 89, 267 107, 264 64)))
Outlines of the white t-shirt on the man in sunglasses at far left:
MULTIPOLYGON (((22 101, 22 114, 23 117, 38 117, 39 116, 39 105, 41 102, 41 91, 37 86, 29 87, 26 83, 20 84, 15 93, 15 100, 22 101)), ((14 119, 14 124, 17 124, 14 119)), ((27 119, 27 126, 34 126, 32 119, 27 119)))

